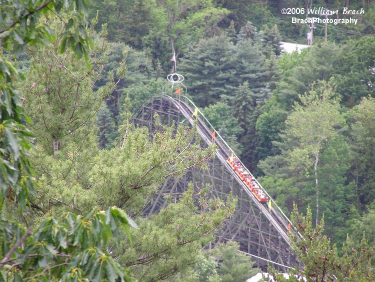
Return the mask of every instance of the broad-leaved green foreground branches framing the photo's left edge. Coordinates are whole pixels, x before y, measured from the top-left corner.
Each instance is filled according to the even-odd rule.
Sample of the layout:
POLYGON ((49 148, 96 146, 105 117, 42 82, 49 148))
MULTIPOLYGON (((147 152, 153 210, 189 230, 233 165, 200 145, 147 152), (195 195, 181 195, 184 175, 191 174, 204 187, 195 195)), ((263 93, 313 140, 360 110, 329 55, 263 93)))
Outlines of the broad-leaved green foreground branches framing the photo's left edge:
MULTIPOLYGON (((64 17, 68 23, 62 29, 61 26, 59 28, 59 32, 63 34, 60 52, 65 51, 68 41, 68 47, 74 50, 75 56, 78 59, 84 56, 88 63, 92 41, 84 28, 84 7, 84 1, 18 1, 17 5, 12 2, 3 3, 1 15, 4 21, 0 23, 0 35, 5 33, 6 36, 2 37, 1 48, 13 55, 14 52, 22 52, 26 46, 33 49, 33 46, 39 44, 59 44, 56 43, 56 35, 47 25, 50 22, 46 19, 57 15, 60 19, 64 17), (73 8, 77 12, 62 16, 62 11, 73 8), (40 18, 43 19, 39 22, 40 18)), ((41 60, 40 63, 44 62, 41 60)), ((83 65, 84 63, 83 61, 83 65)), ((31 134, 20 123, 22 118, 27 121, 30 119, 23 114, 20 94, 13 85, 13 80, 20 80, 22 76, 3 52, 0 65, 0 279, 131 280, 129 272, 114 261, 105 249, 105 242, 109 238, 118 238, 118 230, 128 229, 130 225, 136 227, 122 210, 115 207, 106 211, 91 209, 87 214, 79 216, 65 213, 60 218, 42 218, 42 209, 33 204, 31 197, 36 194, 32 193, 32 187, 39 186, 33 185, 35 180, 31 177, 34 175, 28 159, 31 146, 27 137, 31 134), (12 173, 9 173, 8 168, 12 173), (18 207, 18 213, 14 204, 18 207), (16 214, 16 220, 11 219, 12 214, 16 214), (39 220, 24 224, 22 221, 29 217, 38 217, 39 220), (109 222, 112 224, 108 224, 109 222)), ((58 66, 63 67, 61 62, 58 66)), ((35 86, 36 83, 30 88, 35 86)), ((50 85, 42 91, 47 92, 48 86, 50 85)))

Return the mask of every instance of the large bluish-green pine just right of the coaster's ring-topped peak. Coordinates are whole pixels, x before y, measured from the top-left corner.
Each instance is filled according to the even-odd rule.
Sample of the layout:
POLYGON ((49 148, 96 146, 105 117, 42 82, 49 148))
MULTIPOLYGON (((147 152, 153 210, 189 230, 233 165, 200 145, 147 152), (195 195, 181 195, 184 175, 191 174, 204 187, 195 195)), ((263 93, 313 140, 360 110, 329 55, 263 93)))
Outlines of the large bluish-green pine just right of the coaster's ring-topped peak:
POLYGON ((233 97, 238 85, 248 81, 258 94, 265 87, 264 57, 256 42, 243 40, 233 46, 228 37, 201 41, 186 52, 181 73, 192 99, 200 107, 214 104, 223 97, 233 97))

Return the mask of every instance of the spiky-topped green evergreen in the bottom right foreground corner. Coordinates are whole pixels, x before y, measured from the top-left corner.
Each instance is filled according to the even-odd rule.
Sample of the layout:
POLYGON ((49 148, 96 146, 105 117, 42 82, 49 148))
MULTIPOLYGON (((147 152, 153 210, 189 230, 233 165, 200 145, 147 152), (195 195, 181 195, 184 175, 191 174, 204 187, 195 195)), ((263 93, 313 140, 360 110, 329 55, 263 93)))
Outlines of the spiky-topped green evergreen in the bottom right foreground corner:
POLYGON ((363 236, 360 247, 356 248, 347 236, 342 246, 343 255, 339 256, 336 245, 330 245, 329 239, 323 235, 324 220, 312 227, 311 211, 307 208, 306 216, 299 214, 296 206, 293 208, 292 223, 301 234, 290 235, 290 243, 300 259, 302 267, 288 271, 289 277, 268 267, 269 275, 263 276, 266 281, 298 281, 301 277, 307 281, 372 281, 375 272, 371 259, 375 248, 368 246, 363 236))

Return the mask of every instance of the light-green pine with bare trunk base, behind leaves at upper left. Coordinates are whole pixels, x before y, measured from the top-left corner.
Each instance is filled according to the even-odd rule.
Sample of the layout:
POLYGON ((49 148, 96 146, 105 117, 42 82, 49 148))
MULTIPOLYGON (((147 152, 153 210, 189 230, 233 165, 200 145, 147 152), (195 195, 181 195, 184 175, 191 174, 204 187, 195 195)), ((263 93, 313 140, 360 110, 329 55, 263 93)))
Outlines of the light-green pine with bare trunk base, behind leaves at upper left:
MULTIPOLYGON (((51 22, 58 29, 61 22, 51 22)), ((83 59, 72 52, 58 54, 61 38, 32 50, 30 67, 25 71, 28 80, 22 84, 24 107, 35 121, 32 130, 38 145, 46 152, 56 154, 66 143, 78 143, 89 135, 92 117, 99 110, 103 98, 111 93, 115 82, 110 81, 92 91, 92 85, 101 73, 97 65, 105 62, 105 41, 93 52, 96 59, 87 73, 83 59), (43 64, 39 60, 42 60, 43 64)), ((100 41, 100 39, 97 39, 100 41)), ((122 69, 125 72, 125 69, 122 69)), ((118 74, 121 78, 121 74, 118 74)))

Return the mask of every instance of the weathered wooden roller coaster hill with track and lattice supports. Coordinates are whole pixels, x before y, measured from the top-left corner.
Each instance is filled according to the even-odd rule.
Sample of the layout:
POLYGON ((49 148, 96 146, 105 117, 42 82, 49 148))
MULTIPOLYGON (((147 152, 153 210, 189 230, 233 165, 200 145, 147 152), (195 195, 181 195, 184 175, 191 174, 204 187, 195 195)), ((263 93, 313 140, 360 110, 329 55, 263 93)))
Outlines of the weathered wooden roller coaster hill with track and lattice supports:
MULTIPOLYGON (((197 132, 202 141, 201 146, 212 143, 211 136, 214 128, 187 97, 173 98, 166 95, 152 97, 133 116, 134 126, 146 126, 151 134, 155 112, 159 115, 160 121, 168 126, 172 125, 173 121, 175 124, 192 126, 196 120, 197 132), (197 117, 193 115, 196 110, 197 117)), ((207 171, 193 169, 187 171, 182 179, 174 178, 166 181, 160 187, 159 192, 150 199, 150 204, 144 209, 144 214, 150 216, 163 208, 167 204, 163 195, 173 194, 178 198, 191 181, 200 187, 205 183, 210 183, 212 196, 225 199, 229 191, 234 196, 238 196, 235 214, 223 228, 216 232, 215 243, 227 240, 238 241, 241 251, 273 261, 277 265, 284 265, 278 267, 280 270, 285 270, 285 266, 293 267, 296 260, 290 251, 288 240, 289 219, 255 179, 268 199, 272 201, 271 209, 256 199, 227 162, 227 158, 231 155, 237 156, 217 131, 215 135, 213 143, 217 145, 218 150, 215 152, 215 158, 208 163, 209 169, 207 171)), ((243 164, 242 166, 245 167, 243 164)), ((295 229, 291 228, 289 232, 295 232, 295 229)), ((260 258, 255 260, 256 265, 265 269, 267 262, 260 258)))

